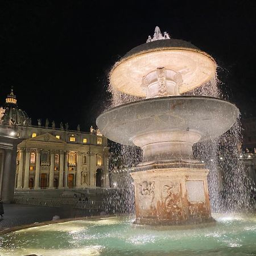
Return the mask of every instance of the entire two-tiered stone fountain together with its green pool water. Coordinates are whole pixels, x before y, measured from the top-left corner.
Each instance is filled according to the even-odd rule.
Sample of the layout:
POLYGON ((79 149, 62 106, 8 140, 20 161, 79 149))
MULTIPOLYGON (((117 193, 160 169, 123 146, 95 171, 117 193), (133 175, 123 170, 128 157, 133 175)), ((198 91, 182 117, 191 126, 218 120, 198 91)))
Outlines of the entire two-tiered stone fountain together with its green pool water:
POLYGON ((122 57, 110 73, 113 88, 133 102, 97 118, 110 140, 143 150, 142 162, 130 173, 136 216, 56 220, 6 231, 0 254, 255 254, 255 214, 211 213, 209 170, 193 155, 194 143, 218 138, 239 115, 236 106, 220 98, 185 95, 207 86, 215 72, 211 56, 156 27, 154 36, 122 57))

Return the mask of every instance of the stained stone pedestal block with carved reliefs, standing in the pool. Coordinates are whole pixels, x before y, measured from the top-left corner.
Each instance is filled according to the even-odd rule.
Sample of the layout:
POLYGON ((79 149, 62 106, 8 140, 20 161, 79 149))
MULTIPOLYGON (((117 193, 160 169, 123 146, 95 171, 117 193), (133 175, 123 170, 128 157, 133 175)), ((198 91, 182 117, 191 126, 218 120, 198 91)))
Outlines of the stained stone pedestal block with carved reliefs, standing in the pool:
MULTIPOLYGON (((138 168, 139 170, 139 168, 138 168)), ((161 168, 131 173, 137 224, 186 225, 214 221, 204 168, 161 168)))

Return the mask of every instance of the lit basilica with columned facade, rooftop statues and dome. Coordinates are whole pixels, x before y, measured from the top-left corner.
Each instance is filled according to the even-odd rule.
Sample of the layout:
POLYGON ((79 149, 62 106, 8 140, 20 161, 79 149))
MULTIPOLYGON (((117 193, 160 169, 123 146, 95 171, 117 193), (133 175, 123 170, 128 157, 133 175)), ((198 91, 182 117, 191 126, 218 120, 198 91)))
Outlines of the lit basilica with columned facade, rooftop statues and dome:
POLYGON ((11 93, 1 108, 0 126, 16 132, 17 146, 15 184, 16 191, 34 189, 108 188, 108 139, 92 127, 90 132, 69 130, 49 125, 32 125, 27 113, 18 108, 11 93))

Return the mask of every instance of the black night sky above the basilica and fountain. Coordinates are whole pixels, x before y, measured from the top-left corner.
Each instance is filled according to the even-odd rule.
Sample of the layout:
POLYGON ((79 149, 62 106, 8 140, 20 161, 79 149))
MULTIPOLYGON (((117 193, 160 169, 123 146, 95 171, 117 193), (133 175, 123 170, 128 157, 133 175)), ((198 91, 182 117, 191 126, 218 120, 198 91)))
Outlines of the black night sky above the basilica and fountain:
POLYGON ((14 86, 32 118, 95 126, 112 65, 155 26, 208 52, 242 117, 256 116, 256 1, 0 1, 0 105, 14 86))

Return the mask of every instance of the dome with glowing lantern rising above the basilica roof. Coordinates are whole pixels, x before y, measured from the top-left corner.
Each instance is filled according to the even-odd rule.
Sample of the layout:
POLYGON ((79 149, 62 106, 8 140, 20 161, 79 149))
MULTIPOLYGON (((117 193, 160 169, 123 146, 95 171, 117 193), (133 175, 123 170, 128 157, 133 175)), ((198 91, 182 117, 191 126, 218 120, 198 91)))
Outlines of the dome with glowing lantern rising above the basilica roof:
POLYGON ((3 125, 31 125, 27 113, 18 108, 16 96, 11 89, 7 95, 5 105, 0 108, 0 124, 3 125))

